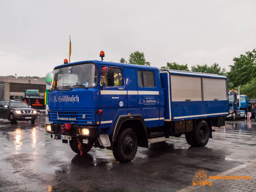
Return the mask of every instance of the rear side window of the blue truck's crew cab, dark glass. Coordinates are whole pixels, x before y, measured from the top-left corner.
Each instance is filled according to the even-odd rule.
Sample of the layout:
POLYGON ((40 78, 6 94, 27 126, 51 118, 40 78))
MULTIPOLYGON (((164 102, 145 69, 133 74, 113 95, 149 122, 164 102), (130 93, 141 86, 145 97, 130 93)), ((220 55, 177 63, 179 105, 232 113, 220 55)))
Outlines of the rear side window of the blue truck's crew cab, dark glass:
POLYGON ((155 87, 155 75, 153 71, 138 70, 138 84, 140 87, 155 87))

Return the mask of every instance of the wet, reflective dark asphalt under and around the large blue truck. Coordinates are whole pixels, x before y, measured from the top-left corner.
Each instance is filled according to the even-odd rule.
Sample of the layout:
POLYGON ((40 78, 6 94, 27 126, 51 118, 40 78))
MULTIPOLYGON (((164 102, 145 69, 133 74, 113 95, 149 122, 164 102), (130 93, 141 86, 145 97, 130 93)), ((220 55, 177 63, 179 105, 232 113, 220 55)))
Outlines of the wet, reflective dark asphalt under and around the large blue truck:
POLYGON ((196 170, 216 175, 256 159, 256 122, 226 121, 202 148, 184 135, 138 148, 121 164, 112 151, 92 148, 85 156, 50 139, 46 115, 35 124, 0 120, 0 192, 178 191, 191 186, 196 170))

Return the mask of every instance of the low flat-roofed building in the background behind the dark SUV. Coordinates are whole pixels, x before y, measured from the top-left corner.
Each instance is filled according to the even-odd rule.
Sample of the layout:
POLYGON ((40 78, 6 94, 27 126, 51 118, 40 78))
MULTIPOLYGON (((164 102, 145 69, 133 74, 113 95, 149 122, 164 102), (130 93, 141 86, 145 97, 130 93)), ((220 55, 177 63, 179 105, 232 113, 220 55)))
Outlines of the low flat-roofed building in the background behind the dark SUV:
POLYGON ((40 96, 44 96, 46 82, 44 78, 21 78, 0 76, 0 100, 22 99, 26 89, 40 90, 40 96))

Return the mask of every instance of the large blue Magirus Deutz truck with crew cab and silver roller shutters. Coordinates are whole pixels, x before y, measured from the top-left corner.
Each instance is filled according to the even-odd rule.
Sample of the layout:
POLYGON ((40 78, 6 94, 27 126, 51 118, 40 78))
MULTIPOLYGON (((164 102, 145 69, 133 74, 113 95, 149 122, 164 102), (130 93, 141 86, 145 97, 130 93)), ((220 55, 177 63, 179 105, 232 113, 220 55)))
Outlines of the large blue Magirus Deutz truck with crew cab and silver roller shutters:
POLYGON ((205 146, 229 110, 225 76, 98 60, 56 66, 48 104, 52 139, 81 155, 107 148, 119 162, 170 136, 205 146))

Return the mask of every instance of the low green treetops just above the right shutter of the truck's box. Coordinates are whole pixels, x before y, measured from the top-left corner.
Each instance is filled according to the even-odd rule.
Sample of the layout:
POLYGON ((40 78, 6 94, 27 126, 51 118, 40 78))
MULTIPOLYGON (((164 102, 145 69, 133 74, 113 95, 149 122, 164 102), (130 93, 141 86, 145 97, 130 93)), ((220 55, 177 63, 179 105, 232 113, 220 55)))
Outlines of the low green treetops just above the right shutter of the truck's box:
POLYGON ((210 67, 208 67, 207 64, 196 65, 196 66, 193 65, 191 67, 191 71, 223 75, 226 72, 226 69, 221 68, 218 63, 214 63, 210 67))

